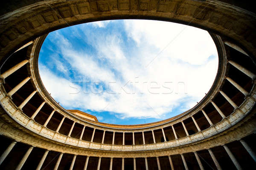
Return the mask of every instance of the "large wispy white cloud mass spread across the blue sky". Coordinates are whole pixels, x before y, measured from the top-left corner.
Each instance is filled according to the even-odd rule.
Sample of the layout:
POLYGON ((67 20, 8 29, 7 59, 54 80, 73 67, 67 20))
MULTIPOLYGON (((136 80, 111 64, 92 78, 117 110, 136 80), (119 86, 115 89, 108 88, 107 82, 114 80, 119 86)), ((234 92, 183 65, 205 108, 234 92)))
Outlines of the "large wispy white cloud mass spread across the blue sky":
MULTIPOLYGON (((90 24, 105 27, 108 23, 90 24)), ((66 109, 80 107, 116 112, 120 118, 159 118, 180 104, 184 111, 193 107, 208 92, 215 78, 218 58, 213 40, 206 31, 148 20, 125 20, 125 31, 137 45, 128 53, 119 32, 106 35, 90 32, 87 43, 97 50, 98 57, 77 51, 67 37, 54 33, 58 51, 71 66, 68 69, 90 81, 103 82, 109 90, 87 94, 83 85, 73 83, 76 80, 59 78, 40 66, 42 81, 52 97, 66 109), (210 55, 215 57, 209 60, 210 55), (169 92, 172 93, 163 94, 169 92)), ((63 64, 57 63, 57 66, 60 71, 67 70, 63 64)))

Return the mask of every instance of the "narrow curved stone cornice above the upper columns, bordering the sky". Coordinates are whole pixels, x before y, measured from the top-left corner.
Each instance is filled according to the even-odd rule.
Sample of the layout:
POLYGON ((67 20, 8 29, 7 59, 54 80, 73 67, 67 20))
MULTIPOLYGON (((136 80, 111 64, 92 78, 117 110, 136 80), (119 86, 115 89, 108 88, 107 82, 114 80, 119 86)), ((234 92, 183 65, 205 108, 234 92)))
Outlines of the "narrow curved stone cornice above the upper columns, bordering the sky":
POLYGON ((207 95, 197 104, 195 107, 187 110, 186 112, 181 113, 180 115, 177 115, 173 118, 169 118, 163 121, 153 122, 149 124, 139 124, 139 125, 116 125, 116 124, 106 124, 102 122, 95 122, 90 120, 82 120, 81 118, 78 118, 76 115, 70 114, 70 112, 67 112, 66 109, 61 107, 47 92, 45 89, 40 75, 38 71, 38 57, 39 52, 41 49, 41 46, 47 37, 47 35, 38 37, 32 46, 30 54, 30 73, 31 78, 33 81, 34 86, 38 90, 38 93, 41 95, 41 97, 47 101, 47 103, 51 104, 52 109, 56 110, 57 112, 61 113, 65 117, 69 118, 72 121, 75 121, 80 124, 84 124, 86 126, 96 128, 99 130, 109 130, 109 131, 115 131, 115 132, 141 132, 142 130, 146 131, 147 129, 151 130, 158 128, 164 128, 170 126, 170 124, 175 124, 180 121, 183 121, 195 113, 199 112, 201 109, 203 109, 211 100, 212 96, 215 96, 219 92, 219 88, 224 82, 224 76, 226 75, 227 70, 227 53, 226 49, 224 47, 224 43, 221 40, 221 37, 215 34, 211 34, 212 39, 215 42, 215 45, 218 50, 218 57, 219 57, 219 64, 218 64, 218 72, 215 78, 215 81, 207 93, 207 95))

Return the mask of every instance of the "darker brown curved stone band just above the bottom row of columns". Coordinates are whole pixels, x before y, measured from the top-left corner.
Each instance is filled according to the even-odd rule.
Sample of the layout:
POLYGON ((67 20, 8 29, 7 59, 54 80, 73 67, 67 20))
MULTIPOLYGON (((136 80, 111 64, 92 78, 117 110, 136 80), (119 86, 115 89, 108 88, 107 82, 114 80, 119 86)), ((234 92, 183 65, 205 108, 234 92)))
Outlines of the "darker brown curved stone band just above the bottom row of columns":
MULTIPOLYGON (((101 144, 92 143, 93 147, 97 147, 97 149, 91 148, 83 148, 79 146, 73 146, 70 144, 62 144, 58 141, 53 141, 41 137, 34 132, 27 130, 25 127, 17 125, 17 123, 12 120, 9 115, 6 115, 3 111, 1 111, 1 119, 0 119, 0 131, 1 134, 6 135, 14 140, 30 144, 35 147, 44 148, 47 150, 53 150, 62 153, 70 153, 74 155, 85 155, 85 156, 101 156, 101 157, 125 157, 125 158, 133 158, 133 157, 151 157, 151 156, 168 156, 175 155, 181 153, 189 153, 202 149, 209 149, 211 147, 219 146, 222 144, 229 143, 234 140, 239 140, 244 136, 247 136, 251 133, 255 133, 256 127, 256 109, 250 110, 247 116, 243 116, 242 120, 235 124, 233 127, 228 128, 224 132, 216 133, 214 136, 209 138, 195 141, 192 144, 183 144, 177 145, 176 147, 172 146, 165 147, 162 149, 154 148, 156 146, 163 146, 166 143, 158 143, 156 145, 150 145, 151 150, 141 150, 144 149, 145 145, 135 145, 137 147, 137 151, 116 151, 116 150, 105 150, 103 147, 99 149, 101 144)), ((84 142, 84 141, 81 141, 84 142)), ((174 143, 171 141, 169 144, 174 143)), ((129 146, 131 149, 132 147, 129 146)), ((113 148, 118 148, 117 145, 113 145, 113 148)))

